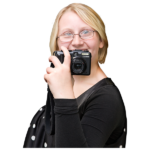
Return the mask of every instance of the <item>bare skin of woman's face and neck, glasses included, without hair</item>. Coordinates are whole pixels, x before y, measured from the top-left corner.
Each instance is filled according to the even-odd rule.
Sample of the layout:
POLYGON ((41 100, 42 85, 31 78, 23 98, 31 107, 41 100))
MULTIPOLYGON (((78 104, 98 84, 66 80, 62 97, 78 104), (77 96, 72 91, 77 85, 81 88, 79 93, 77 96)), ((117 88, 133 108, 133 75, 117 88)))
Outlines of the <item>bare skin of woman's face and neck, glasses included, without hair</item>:
MULTIPOLYGON (((98 65, 98 51, 104 47, 104 42, 100 40, 97 31, 86 24, 74 11, 69 10, 61 16, 58 27, 58 50, 61 50, 61 46, 65 46, 68 50, 87 49, 92 55, 90 75, 73 75, 75 82, 74 92, 76 91, 75 93, 77 93, 75 89, 78 89, 78 86, 83 85, 83 83, 84 87, 89 88, 90 86, 88 85, 92 86, 101 79, 108 77, 98 65), (70 30, 64 30, 66 28, 70 30), (66 35, 66 33, 70 34, 66 35)), ((80 91, 80 94, 83 92, 80 91)))

